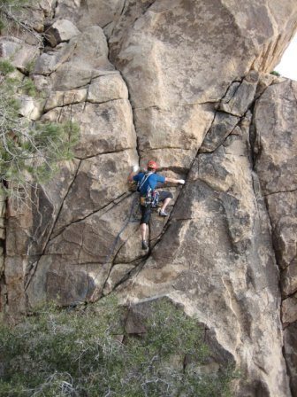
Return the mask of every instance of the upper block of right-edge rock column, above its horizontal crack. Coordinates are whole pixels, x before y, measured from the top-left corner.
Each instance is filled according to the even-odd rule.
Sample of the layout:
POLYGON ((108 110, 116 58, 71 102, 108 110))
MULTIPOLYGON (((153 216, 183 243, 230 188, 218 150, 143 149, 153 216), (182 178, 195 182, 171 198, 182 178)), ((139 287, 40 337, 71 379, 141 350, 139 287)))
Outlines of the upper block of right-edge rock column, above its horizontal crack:
POLYGON ((297 189, 296 95, 297 82, 280 82, 255 107, 255 171, 264 195, 297 189))

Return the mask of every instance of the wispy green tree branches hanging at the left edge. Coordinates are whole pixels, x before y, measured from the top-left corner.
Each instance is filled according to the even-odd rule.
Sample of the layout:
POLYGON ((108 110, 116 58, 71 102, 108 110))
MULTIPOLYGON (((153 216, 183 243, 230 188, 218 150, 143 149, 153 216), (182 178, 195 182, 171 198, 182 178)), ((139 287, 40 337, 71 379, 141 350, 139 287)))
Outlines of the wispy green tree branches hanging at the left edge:
POLYGON ((11 78, 12 71, 8 61, 0 63, 0 179, 7 194, 26 199, 32 183, 47 182, 58 161, 72 159, 79 127, 20 117, 18 95, 36 97, 36 89, 30 78, 11 78))

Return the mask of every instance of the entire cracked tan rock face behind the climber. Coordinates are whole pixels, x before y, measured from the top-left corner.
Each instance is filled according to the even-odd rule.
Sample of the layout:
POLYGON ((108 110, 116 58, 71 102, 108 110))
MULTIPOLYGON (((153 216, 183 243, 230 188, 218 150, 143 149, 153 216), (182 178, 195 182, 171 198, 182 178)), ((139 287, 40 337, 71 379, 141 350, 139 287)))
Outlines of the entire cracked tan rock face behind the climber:
MULTIPOLYGON (((80 142, 27 205, 1 208, 2 307, 167 296, 236 362, 235 395, 295 396, 297 85, 265 73, 297 4, 42 4, 50 47, 34 52, 46 95, 31 101, 34 120, 77 121, 80 142), (148 159, 187 183, 166 187, 170 217, 152 215, 147 253, 126 176, 148 159)), ((0 38, 20 72, 26 46, 36 50, 27 35, 0 38)))

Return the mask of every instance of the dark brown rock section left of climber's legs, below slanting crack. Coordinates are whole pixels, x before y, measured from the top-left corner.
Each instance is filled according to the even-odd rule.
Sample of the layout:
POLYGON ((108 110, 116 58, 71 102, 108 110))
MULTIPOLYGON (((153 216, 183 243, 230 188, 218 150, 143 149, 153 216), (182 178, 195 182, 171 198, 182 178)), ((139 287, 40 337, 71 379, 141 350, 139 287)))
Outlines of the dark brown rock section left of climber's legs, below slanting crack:
POLYGON ((126 197, 53 237, 27 284, 29 304, 58 297, 63 305, 71 305, 90 300, 94 293, 99 298, 119 247, 138 229, 128 215, 135 203, 126 197))

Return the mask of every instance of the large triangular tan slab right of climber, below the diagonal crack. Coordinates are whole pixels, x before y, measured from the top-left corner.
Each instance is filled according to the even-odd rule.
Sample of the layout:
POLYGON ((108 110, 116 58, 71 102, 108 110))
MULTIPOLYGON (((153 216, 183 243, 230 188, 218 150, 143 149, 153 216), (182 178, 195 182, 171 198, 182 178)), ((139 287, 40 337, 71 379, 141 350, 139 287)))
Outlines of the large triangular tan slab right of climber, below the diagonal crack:
MULTIPOLYGON (((198 315, 236 360, 246 363, 247 378, 257 373, 267 393, 286 396, 275 308, 278 269, 263 200, 255 198, 247 140, 245 134, 230 136, 216 152, 198 156, 166 233, 120 293, 129 301, 169 294, 198 315)), ((256 385, 241 387, 239 395, 257 393, 256 385)))

